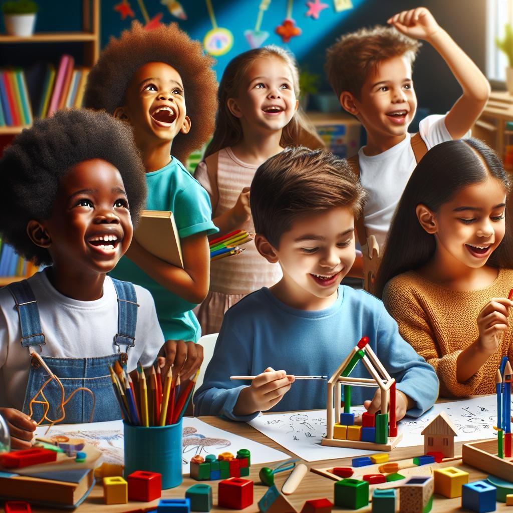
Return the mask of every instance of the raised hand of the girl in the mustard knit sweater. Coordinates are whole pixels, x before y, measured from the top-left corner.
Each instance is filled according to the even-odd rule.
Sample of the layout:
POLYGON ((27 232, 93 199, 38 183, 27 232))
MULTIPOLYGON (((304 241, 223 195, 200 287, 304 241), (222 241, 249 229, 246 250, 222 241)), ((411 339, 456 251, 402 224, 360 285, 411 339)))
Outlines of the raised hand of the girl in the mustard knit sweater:
POLYGON ((477 323, 479 338, 477 346, 486 353, 494 353, 499 347, 499 334, 508 329, 509 308, 513 301, 507 298, 492 298, 479 312, 477 323))

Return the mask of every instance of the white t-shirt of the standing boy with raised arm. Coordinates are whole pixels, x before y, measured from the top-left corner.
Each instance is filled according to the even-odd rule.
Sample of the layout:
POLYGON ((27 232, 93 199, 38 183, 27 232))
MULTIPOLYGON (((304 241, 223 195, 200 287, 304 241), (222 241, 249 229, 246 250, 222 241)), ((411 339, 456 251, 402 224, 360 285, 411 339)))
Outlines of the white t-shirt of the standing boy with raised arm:
MULTIPOLYGON (((445 115, 433 114, 419 124, 419 132, 429 150, 433 146, 451 141, 445 127, 445 115)), ((367 236, 374 235, 383 248, 392 216, 401 199, 408 180, 417 166, 411 149, 411 135, 379 155, 366 156, 363 148, 358 152, 360 180, 368 192, 364 225, 367 236)))

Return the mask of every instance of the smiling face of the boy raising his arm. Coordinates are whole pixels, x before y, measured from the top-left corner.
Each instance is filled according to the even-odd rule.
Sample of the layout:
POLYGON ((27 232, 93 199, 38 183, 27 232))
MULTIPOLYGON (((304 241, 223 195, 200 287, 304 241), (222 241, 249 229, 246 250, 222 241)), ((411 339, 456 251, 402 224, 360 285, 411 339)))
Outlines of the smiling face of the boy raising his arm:
POLYGON ((417 110, 408 59, 392 57, 381 62, 367 77, 360 98, 353 98, 353 102, 356 110, 352 113, 370 139, 391 141, 392 145, 402 141, 417 110))

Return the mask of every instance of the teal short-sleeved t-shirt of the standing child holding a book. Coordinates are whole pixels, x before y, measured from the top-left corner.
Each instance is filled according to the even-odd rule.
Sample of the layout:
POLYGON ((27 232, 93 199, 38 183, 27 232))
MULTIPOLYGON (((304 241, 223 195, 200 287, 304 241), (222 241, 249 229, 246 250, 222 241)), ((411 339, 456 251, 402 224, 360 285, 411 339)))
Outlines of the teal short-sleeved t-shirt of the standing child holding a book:
MULTIPOLYGON (((181 240, 195 233, 210 235, 219 231, 212 223, 212 208, 206 190, 174 157, 166 167, 146 173, 146 184, 146 209, 173 212, 181 240)), ((151 292, 165 340, 198 342, 201 328, 191 311, 195 304, 155 282, 127 257, 119 261, 110 275, 141 285, 151 292)))

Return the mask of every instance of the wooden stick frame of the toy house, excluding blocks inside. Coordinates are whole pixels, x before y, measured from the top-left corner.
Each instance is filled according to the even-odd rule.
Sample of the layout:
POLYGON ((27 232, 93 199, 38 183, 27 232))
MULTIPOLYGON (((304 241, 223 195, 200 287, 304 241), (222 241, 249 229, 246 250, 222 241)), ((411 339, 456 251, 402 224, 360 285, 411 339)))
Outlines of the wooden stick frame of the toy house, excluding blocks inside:
MULTIPOLYGON (((338 369, 328 380, 328 392, 326 403, 326 437, 321 444, 331 447, 349 447, 355 449, 370 450, 392 450, 401 440, 402 435, 397 433, 396 423, 396 380, 390 377, 390 374, 383 367, 376 356, 376 353, 368 345, 369 339, 363 337, 356 346, 353 347, 347 358, 340 364, 338 369), (369 378, 351 378, 349 375, 359 362, 362 362, 367 368, 372 379, 369 378), (333 438, 333 419, 340 419, 341 413, 341 386, 363 386, 378 387, 381 390, 381 411, 388 412, 390 405, 390 422, 388 429, 387 443, 362 442, 356 440, 340 440, 333 438), (333 417, 333 399, 334 399, 334 417, 333 417)), ((350 390, 350 389, 349 389, 350 390)), ((350 401, 344 397, 344 410, 349 411, 350 401)))

